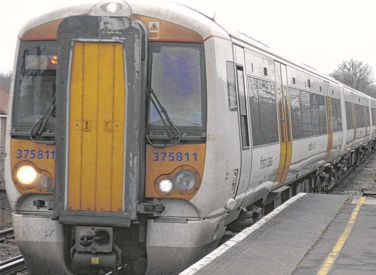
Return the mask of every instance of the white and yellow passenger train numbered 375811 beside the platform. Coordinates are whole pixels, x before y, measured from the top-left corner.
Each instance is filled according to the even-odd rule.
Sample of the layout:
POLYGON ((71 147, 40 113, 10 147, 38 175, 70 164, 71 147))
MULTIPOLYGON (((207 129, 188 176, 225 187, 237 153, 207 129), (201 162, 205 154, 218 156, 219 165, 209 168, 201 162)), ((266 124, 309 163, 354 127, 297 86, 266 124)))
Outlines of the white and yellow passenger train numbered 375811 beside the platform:
POLYGON ((376 99, 177 3, 39 16, 14 72, 6 188, 32 274, 176 274, 375 143, 376 99))

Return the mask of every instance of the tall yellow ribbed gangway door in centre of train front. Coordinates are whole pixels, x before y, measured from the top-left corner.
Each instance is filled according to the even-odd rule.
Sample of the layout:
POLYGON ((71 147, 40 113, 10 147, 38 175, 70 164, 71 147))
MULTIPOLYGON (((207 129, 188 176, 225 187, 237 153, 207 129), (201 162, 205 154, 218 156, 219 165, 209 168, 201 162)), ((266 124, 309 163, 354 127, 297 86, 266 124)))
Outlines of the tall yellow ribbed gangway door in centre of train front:
POLYGON ((124 210, 123 52, 120 42, 74 42, 67 102, 67 210, 124 210))

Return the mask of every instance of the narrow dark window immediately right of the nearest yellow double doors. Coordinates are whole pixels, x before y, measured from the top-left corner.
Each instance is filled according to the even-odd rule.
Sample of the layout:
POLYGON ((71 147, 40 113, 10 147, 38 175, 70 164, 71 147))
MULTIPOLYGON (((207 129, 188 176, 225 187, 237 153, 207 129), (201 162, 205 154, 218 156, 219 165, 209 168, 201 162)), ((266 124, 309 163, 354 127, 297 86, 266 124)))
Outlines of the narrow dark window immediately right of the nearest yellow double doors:
POLYGON ((300 102, 300 90, 290 88, 291 129, 292 138, 303 137, 302 109, 300 102))

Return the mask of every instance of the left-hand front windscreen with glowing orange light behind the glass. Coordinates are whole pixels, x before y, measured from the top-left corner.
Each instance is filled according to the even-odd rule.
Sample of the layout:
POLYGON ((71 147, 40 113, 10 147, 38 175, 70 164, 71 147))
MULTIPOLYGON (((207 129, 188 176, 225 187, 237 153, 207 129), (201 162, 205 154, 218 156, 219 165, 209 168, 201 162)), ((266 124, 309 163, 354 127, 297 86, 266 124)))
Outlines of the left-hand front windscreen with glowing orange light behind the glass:
MULTIPOLYGON (((56 92, 56 41, 24 41, 20 45, 13 103, 13 127, 28 131, 46 112, 56 92)), ((47 128, 55 126, 55 111, 47 128)))

